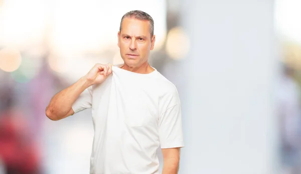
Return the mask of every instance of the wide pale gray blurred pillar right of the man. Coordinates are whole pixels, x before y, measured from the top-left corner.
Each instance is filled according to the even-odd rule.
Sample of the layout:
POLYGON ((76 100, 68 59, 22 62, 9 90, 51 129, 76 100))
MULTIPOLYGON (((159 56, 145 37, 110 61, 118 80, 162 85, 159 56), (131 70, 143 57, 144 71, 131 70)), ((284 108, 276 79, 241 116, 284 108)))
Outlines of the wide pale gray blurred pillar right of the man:
POLYGON ((180 173, 276 173, 274 2, 182 3, 191 48, 174 65, 186 141, 180 173))

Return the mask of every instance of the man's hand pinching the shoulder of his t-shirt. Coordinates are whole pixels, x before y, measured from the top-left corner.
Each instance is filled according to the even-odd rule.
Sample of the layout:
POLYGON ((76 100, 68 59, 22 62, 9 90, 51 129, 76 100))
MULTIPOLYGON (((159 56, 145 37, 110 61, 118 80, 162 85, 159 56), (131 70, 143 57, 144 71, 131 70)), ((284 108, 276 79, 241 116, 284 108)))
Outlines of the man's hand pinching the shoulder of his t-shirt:
POLYGON ((111 64, 95 64, 94 67, 85 75, 90 85, 102 83, 108 75, 112 73, 111 64))

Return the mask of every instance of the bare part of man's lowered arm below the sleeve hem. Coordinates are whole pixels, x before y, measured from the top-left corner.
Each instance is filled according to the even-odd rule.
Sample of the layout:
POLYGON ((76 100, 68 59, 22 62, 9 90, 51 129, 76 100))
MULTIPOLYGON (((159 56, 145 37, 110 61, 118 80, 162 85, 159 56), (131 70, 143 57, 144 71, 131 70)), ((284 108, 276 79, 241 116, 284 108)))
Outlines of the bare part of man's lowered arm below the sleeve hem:
POLYGON ((177 174, 179 170, 180 148, 162 148, 162 174, 177 174))

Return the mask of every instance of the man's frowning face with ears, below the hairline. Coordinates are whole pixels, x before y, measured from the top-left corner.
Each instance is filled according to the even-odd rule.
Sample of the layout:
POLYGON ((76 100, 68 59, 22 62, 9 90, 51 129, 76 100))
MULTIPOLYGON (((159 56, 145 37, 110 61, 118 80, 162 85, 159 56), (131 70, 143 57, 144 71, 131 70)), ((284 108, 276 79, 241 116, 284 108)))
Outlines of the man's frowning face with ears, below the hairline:
POLYGON ((124 63, 139 67, 148 60, 149 51, 154 49, 155 36, 150 37, 149 22, 134 18, 122 21, 118 32, 118 47, 124 63))

